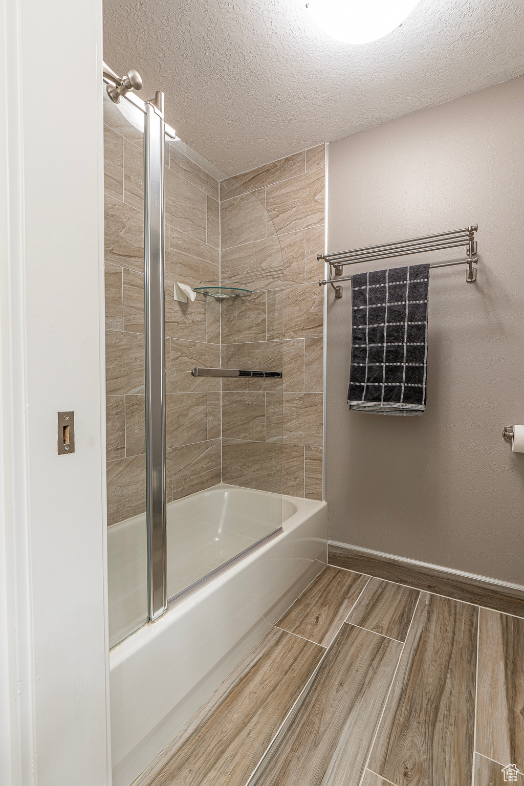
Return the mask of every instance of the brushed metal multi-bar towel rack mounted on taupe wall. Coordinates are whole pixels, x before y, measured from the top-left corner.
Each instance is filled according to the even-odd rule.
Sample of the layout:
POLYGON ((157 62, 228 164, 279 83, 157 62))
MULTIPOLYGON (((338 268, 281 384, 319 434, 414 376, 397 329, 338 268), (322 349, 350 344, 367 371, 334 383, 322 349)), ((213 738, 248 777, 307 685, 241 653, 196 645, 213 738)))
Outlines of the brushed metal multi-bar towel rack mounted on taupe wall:
POLYGON ((329 265, 328 278, 318 282, 319 287, 331 284, 335 290, 335 298, 341 298, 343 288, 338 281, 351 281, 351 276, 342 276, 346 265, 356 265, 362 262, 377 262, 382 259, 394 259, 395 257, 407 256, 409 254, 423 254, 424 252, 438 251, 443 248, 466 247, 466 259, 457 262, 442 262, 430 265, 430 267, 451 267, 453 265, 467 265, 466 281, 472 284, 477 280, 477 241, 475 232, 478 224, 468 226, 465 230, 454 230, 453 232, 442 232, 438 235, 426 235, 425 237, 413 237, 409 241, 398 241, 396 243, 385 243, 383 245, 366 246, 365 248, 355 248, 353 251, 343 251, 338 254, 317 254, 317 259, 324 259, 329 265), (475 267, 474 267, 475 265, 475 267), (337 277, 332 281, 332 274, 335 272, 337 277))

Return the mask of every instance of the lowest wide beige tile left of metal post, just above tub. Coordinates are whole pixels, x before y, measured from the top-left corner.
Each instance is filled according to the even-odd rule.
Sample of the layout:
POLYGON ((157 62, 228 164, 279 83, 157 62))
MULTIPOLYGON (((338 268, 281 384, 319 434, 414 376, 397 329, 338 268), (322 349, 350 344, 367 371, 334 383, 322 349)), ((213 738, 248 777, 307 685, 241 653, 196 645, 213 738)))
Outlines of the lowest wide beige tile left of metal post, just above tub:
POLYGON ((108 461, 108 524, 145 512, 145 456, 108 461))

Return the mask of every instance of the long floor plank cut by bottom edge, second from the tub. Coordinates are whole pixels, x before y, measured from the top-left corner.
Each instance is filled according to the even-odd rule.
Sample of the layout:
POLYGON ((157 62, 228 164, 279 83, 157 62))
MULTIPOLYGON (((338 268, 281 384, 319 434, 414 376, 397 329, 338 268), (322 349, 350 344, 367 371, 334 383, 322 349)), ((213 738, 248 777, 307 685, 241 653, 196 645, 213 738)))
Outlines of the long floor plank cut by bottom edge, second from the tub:
POLYGON ((251 781, 359 786, 401 644, 343 624, 251 781))

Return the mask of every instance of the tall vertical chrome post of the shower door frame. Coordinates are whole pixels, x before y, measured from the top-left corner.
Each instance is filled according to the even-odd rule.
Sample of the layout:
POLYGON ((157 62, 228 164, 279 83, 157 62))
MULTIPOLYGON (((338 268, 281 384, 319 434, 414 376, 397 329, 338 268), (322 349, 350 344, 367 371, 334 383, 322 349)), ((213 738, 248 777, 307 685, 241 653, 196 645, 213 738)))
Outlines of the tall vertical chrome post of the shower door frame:
POLYGON ((145 472, 148 615, 167 612, 165 185, 163 94, 145 102, 145 472))

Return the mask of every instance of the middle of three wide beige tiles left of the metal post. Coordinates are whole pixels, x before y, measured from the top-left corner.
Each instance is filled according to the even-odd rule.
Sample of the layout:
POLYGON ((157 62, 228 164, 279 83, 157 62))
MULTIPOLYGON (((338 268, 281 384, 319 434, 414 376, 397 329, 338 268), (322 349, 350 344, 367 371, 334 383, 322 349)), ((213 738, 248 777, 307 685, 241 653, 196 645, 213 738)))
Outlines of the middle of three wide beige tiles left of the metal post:
POLYGON ((144 393, 144 335, 115 330, 105 332, 107 395, 144 393))

